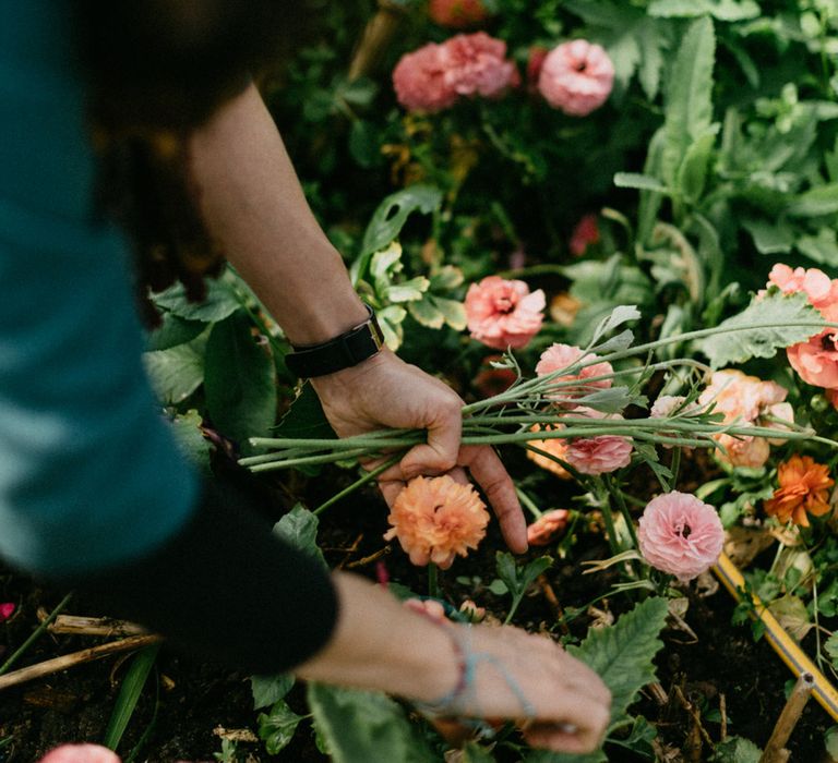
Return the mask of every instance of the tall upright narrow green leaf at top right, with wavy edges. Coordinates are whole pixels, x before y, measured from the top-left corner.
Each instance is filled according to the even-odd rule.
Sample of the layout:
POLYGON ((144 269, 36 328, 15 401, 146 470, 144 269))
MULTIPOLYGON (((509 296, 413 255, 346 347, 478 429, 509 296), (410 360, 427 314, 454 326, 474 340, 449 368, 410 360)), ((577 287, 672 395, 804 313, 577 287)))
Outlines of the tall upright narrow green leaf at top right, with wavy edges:
POLYGON ((713 66, 716 35, 709 16, 696 19, 679 47, 666 99, 663 181, 675 184, 678 168, 690 145, 713 122, 713 66))

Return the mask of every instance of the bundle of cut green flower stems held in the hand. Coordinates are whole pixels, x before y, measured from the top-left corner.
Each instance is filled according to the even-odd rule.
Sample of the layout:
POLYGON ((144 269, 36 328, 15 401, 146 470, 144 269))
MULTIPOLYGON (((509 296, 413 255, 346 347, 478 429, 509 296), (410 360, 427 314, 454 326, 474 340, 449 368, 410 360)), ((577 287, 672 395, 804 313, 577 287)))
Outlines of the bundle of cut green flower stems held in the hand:
MULTIPOLYGON (((825 324, 801 320, 794 324, 761 323, 749 326, 717 326, 690 331, 631 347, 633 335, 623 330, 600 341, 602 336, 627 319, 639 317, 632 307, 618 307, 597 327, 594 339, 583 350, 582 356, 564 368, 549 375, 525 379, 515 358, 507 353, 504 364, 515 368, 517 380, 510 389, 463 407, 463 445, 518 445, 539 451, 537 440, 552 438, 588 438, 600 435, 630 437, 636 444, 661 444, 689 448, 719 448, 721 434, 734 437, 766 437, 771 439, 818 441, 838 447, 835 440, 819 437, 811 428, 773 420, 774 426, 753 426, 746 422, 721 423, 720 415, 713 413, 713 401, 699 407, 694 401, 695 388, 711 368, 690 358, 651 362, 655 352, 668 344, 685 343, 709 336, 755 329, 811 327, 812 332, 823 330, 825 324), (622 312, 621 312, 622 311, 622 312), (635 359, 613 373, 579 378, 583 368, 600 363, 620 363, 635 359), (636 361, 641 362, 636 362, 636 361), (684 374, 686 371, 686 374, 684 374), (639 411, 647 405, 642 387, 656 372, 666 372, 692 387, 687 396, 692 404, 684 404, 667 417, 610 417, 628 405, 639 411), (692 379, 690 379, 692 377, 692 379), (602 382, 624 385, 602 388, 602 382), (600 384, 597 384, 600 383, 600 384), (599 413, 586 415, 585 409, 599 413)), ((276 438, 253 437, 252 446, 270 448, 271 452, 241 459, 240 463, 253 472, 264 472, 292 467, 370 460, 386 457, 387 463, 398 460, 399 455, 426 441, 424 429, 381 429, 342 439, 335 438, 276 438)), ((547 455, 547 453, 544 453, 547 455)), ((549 456, 549 455, 548 455, 549 456)), ((566 465, 566 464, 565 464, 566 465)))

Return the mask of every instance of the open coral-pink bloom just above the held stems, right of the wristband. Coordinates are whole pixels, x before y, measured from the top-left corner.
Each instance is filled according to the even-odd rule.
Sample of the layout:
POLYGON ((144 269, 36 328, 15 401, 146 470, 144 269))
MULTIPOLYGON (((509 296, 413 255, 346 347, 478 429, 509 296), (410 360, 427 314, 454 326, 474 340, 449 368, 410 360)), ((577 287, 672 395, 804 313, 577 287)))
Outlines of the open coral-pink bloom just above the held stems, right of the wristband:
POLYGON ((524 281, 487 276, 466 293, 466 320, 472 339, 495 350, 519 350, 543 323, 544 292, 524 281))

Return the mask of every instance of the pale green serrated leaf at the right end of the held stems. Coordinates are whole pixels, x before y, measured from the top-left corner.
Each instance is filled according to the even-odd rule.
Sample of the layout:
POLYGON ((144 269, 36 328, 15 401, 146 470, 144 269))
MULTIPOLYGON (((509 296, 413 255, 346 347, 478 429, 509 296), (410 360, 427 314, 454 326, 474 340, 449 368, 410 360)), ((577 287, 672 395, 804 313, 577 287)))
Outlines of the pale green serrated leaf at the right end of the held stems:
POLYGON ((801 320, 823 324, 821 313, 809 304, 805 294, 777 291, 754 299, 739 315, 722 320, 717 326, 720 332, 707 337, 699 346, 714 368, 744 363, 751 358, 774 358, 778 349, 818 332, 817 326, 790 325, 801 320), (770 324, 771 328, 752 328, 759 324, 770 324))

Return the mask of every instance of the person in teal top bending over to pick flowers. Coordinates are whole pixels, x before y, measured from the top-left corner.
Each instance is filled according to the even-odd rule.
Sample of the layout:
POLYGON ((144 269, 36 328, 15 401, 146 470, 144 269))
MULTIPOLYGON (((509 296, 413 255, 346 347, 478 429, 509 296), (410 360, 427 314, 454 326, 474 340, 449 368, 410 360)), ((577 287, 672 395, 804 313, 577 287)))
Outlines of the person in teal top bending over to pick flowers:
MULTIPOLYGON (((155 80, 169 65, 160 61, 188 68, 200 58, 194 50, 206 61, 224 46, 204 41, 238 33, 230 19, 254 4, 125 3, 153 20, 144 45, 159 46, 147 51, 157 69, 140 77, 144 86, 166 89, 155 80)), ((551 640, 443 622, 361 578, 327 576, 273 536, 251 499, 202 483, 183 462, 141 366, 127 243, 93 213, 89 82, 74 47, 89 38, 70 34, 72 10, 50 0, 0 10, 2 558, 229 665, 382 690, 442 715, 526 720, 535 746, 594 749, 609 692, 551 640)), ((106 74, 119 83, 124 72, 106 74)), ((367 310, 256 87, 208 89, 223 97, 183 135, 210 239, 294 346, 319 346, 363 324, 367 310)), ((137 105, 131 92, 123 100, 141 120, 151 101, 137 105)), ((169 92, 180 94, 175 101, 189 97, 188 87, 169 92)), ((510 548, 526 550, 512 481, 493 450, 462 446, 462 401, 446 385, 386 349, 311 383, 339 435, 428 431, 426 444, 382 475, 387 501, 418 474, 470 474, 510 548)))

